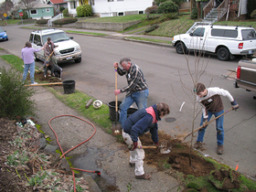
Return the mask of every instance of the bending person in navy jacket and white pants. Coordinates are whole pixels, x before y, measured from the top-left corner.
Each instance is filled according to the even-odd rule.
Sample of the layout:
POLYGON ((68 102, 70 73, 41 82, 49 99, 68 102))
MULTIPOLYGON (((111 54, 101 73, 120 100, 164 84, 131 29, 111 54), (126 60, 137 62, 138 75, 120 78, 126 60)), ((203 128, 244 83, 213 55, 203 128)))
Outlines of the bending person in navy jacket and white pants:
POLYGON ((170 108, 165 102, 159 102, 151 107, 141 109, 130 115, 123 124, 123 140, 132 145, 130 152, 130 165, 135 165, 135 178, 149 179, 151 176, 144 173, 144 149, 139 136, 151 133, 151 138, 156 146, 158 144, 158 121, 170 113, 170 108))

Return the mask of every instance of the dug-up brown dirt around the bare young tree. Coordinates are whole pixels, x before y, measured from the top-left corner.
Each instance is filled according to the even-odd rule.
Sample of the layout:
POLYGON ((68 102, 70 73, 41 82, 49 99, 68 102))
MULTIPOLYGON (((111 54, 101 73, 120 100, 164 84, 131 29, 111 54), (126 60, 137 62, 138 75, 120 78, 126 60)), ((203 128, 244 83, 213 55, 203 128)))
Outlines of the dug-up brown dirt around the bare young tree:
MULTIPOLYGON (((147 133, 140 137, 142 144, 151 145, 151 134, 147 133)), ((206 160, 203 155, 199 155, 196 151, 191 150, 186 143, 181 143, 178 139, 173 139, 170 135, 164 132, 159 133, 159 144, 162 141, 167 141, 172 145, 172 150, 169 154, 161 154, 158 149, 144 149, 145 162, 149 165, 156 165, 159 170, 165 171, 170 176, 175 176, 177 179, 186 179, 187 176, 206 176, 208 183, 216 187, 219 191, 231 191, 232 189, 240 188, 240 173, 231 170, 227 167, 217 168, 213 163, 206 160), (189 158, 191 154, 191 158, 189 158), (164 163, 166 162, 166 163, 164 163), (164 167, 165 166, 165 167, 164 167), (169 167, 169 169, 166 169, 169 167), (182 173, 182 176, 180 174, 182 173)), ((195 184, 196 185, 196 184, 195 184)), ((193 187, 194 191, 195 188, 193 187)), ((190 188, 191 189, 191 188, 190 188)), ((186 192, 188 189, 184 189, 186 192)), ((197 191, 208 191, 206 188, 197 188, 197 191)), ((243 191, 250 191, 246 188, 243 191)))

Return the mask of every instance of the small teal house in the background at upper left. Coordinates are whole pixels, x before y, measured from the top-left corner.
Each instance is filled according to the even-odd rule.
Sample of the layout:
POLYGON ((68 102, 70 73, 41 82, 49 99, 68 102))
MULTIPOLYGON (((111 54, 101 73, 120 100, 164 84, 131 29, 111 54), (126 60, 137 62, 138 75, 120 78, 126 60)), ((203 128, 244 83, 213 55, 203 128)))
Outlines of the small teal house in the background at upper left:
MULTIPOLYGON (((23 8, 25 10, 25 8, 23 8)), ((45 3, 37 2, 32 8, 29 10, 28 16, 32 19, 48 19, 54 16, 54 7, 53 5, 47 5, 45 3)))

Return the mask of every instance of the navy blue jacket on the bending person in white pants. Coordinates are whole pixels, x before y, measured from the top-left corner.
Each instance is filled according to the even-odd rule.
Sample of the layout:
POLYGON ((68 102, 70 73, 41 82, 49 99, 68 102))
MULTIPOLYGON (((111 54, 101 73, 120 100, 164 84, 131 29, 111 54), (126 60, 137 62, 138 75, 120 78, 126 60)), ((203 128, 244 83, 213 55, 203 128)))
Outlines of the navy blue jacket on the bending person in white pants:
POLYGON ((130 134, 133 142, 137 142, 138 137, 144 133, 150 132, 153 142, 158 143, 157 121, 161 121, 161 119, 156 110, 156 104, 152 105, 152 107, 155 112, 156 123, 153 123, 153 116, 152 114, 148 113, 146 109, 134 112, 124 122, 123 132, 130 134))

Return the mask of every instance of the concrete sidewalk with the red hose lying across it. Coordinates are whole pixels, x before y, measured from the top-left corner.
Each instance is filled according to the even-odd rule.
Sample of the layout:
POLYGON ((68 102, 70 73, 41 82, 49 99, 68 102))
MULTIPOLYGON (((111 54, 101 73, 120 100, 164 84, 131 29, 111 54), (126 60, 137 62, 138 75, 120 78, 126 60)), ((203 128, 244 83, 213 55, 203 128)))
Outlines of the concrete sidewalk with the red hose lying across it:
MULTIPOLYGON (((10 67, 2 59, 0 59, 0 66, 5 66, 6 69, 10 67)), ((37 117, 35 121, 41 125, 41 129, 46 135, 53 140, 52 144, 56 144, 56 137, 48 125, 49 120, 63 114, 75 115, 81 119, 84 119, 84 117, 59 101, 46 88, 33 87, 33 89, 36 90, 33 99, 37 103, 37 117)), ((90 122, 89 120, 86 121, 90 122)), ((90 124, 69 116, 56 118, 51 121, 50 125, 57 133, 59 144, 64 152, 87 140, 94 131, 90 124)), ((95 167, 96 170, 101 171, 101 176, 97 176, 94 173, 84 174, 90 183, 90 192, 108 191, 104 188, 107 186, 116 187, 116 191, 118 189, 120 191, 128 191, 129 185, 132 188, 131 192, 177 191, 178 181, 172 176, 165 175, 164 172, 159 172, 155 166, 144 165, 145 172, 152 175, 150 180, 135 179, 134 167, 129 165, 130 153, 127 150, 126 144, 117 143, 114 136, 104 133, 98 126, 96 126, 96 130, 96 133, 89 142, 81 144, 78 148, 68 153, 68 156, 74 158, 71 158, 70 161, 76 168, 84 169, 84 167, 89 167, 92 169, 95 167), (98 186, 101 186, 101 189, 91 177, 97 180, 98 184, 100 183, 98 186)))

